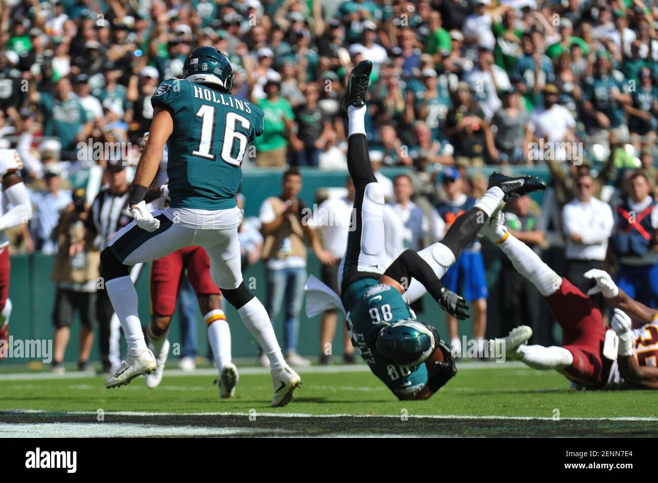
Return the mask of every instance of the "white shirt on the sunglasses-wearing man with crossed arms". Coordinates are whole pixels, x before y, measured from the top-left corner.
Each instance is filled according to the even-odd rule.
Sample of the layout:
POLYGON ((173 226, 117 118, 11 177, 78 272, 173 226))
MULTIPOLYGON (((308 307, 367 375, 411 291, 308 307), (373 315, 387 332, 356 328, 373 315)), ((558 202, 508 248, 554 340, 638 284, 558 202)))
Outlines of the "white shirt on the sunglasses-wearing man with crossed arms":
POLYGON ((567 236, 568 260, 604 260, 608 239, 613 232, 615 219, 607 203, 592 197, 589 203, 572 199, 562 209, 562 221, 567 236), (572 234, 580 235, 580 243, 570 240, 572 234))

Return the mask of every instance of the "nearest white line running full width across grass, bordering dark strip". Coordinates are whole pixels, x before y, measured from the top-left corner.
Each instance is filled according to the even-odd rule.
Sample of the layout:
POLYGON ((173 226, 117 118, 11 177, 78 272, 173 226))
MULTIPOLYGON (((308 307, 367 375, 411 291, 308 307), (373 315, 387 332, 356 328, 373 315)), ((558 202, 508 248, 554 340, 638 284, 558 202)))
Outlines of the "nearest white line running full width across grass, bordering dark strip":
MULTIPOLYGON (((89 415, 96 416, 97 411, 43 411, 41 409, 5 409, 0 410, 0 413, 15 413, 15 414, 57 414, 57 415, 89 415)), ((232 412, 232 411, 217 411, 217 412, 201 412, 201 413, 170 413, 170 412, 149 412, 149 411, 105 411, 105 416, 134 416, 134 417, 161 417, 161 416, 171 416, 171 417, 180 417, 180 416, 241 416, 245 418, 249 417, 274 417, 282 419, 294 419, 294 418, 318 418, 318 419, 328 419, 328 418, 386 418, 386 419, 399 419, 400 415, 354 415, 347 413, 336 413, 336 414, 320 414, 314 415, 309 413, 245 413, 245 412, 232 412)), ((658 417, 634 417, 634 416, 622 416, 622 417, 603 417, 603 418, 584 418, 584 417, 565 417, 560 419, 553 419, 552 417, 542 417, 542 416, 502 416, 502 415, 491 415, 491 416, 470 416, 470 415, 407 415, 407 417, 412 419, 438 419, 438 420, 450 420, 450 419, 476 419, 476 420, 518 420, 518 421, 643 421, 643 422, 655 422, 658 421, 658 417)), ((30 423, 26 423, 30 424, 30 423)))

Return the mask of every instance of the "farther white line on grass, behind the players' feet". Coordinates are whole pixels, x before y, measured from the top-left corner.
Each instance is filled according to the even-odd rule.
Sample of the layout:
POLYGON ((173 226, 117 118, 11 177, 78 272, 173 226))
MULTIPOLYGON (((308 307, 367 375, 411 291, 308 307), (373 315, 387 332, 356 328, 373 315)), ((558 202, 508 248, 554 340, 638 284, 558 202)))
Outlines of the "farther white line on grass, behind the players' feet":
MULTIPOLYGON (((495 362, 468 362, 462 363, 457 366, 458 370, 470 369, 501 369, 501 368, 517 368, 527 369, 536 374, 541 374, 542 371, 531 369, 530 367, 520 363, 519 361, 510 361, 504 364, 497 364, 495 362)), ((370 368, 365 364, 355 365, 335 365, 335 366, 311 366, 299 367, 296 369, 299 374, 336 374, 342 372, 370 372, 370 368)), ((266 367, 239 367, 240 375, 249 374, 270 374, 270 369, 266 367)), ((216 369, 197 369, 193 371, 186 371, 180 369, 165 369, 165 377, 181 377, 181 376, 217 376, 216 369)), ((107 378, 107 376, 97 376, 90 372, 64 372, 64 374, 53 374, 51 372, 18 372, 10 374, 0 374, 0 382, 2 381, 20 381, 20 380, 48 380, 48 379, 84 379, 84 378, 107 378)))

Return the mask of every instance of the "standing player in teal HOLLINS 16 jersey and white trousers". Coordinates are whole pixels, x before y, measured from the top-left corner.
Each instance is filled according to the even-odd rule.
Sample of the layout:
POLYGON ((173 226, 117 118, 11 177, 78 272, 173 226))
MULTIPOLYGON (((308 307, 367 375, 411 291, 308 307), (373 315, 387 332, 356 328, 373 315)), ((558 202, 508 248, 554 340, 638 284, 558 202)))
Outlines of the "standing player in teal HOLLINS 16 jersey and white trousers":
POLYGON ((128 201, 134 222, 101 252, 105 287, 128 342, 128 354, 105 386, 122 386, 157 367, 141 331, 137 292, 128 268, 199 245, 209 255, 213 281, 269 358, 272 406, 283 406, 301 379, 284 361, 265 307, 245 287, 238 240, 240 166, 247 145, 263 132, 263 111, 231 95, 233 68, 215 47, 193 49, 183 76, 165 80, 153 93, 149 141, 128 201), (165 143, 170 203, 151 214, 144 197, 165 143))

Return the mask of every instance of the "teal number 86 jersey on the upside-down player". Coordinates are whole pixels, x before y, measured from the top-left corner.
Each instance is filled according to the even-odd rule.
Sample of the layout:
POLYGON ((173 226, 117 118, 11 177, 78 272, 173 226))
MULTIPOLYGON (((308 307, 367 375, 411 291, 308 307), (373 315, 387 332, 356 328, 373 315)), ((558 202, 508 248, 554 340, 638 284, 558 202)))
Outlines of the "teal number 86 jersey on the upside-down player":
POLYGON ((376 278, 361 278, 347 286, 342 299, 347 311, 345 322, 349 337, 372 373, 395 395, 420 392, 428 378, 424 363, 413 367, 397 366, 376 351, 377 334, 386 324, 416 318, 402 295, 392 286, 380 284, 376 278))

